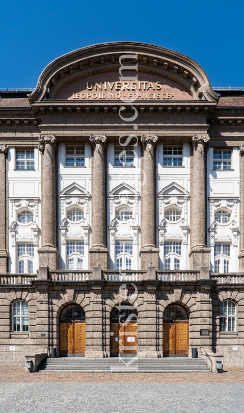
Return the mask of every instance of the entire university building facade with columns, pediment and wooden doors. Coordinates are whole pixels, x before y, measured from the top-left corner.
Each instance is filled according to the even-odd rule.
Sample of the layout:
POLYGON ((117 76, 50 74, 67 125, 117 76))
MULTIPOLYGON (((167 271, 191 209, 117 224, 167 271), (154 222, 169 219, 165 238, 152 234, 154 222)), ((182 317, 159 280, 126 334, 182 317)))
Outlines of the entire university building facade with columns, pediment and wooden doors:
POLYGON ((53 347, 241 366, 243 122, 242 90, 145 43, 75 50, 1 92, 2 366, 53 347))

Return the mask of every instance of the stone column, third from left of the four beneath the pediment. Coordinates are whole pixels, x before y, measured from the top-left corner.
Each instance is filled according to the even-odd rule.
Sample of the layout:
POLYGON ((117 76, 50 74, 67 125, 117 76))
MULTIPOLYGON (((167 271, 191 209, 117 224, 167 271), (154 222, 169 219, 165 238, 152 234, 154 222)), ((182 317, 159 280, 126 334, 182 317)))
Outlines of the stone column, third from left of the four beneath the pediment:
POLYGON ((154 147, 157 135, 142 135, 143 168, 142 168, 142 239, 141 268, 158 268, 159 249, 156 247, 156 202, 155 202, 155 170, 154 147))

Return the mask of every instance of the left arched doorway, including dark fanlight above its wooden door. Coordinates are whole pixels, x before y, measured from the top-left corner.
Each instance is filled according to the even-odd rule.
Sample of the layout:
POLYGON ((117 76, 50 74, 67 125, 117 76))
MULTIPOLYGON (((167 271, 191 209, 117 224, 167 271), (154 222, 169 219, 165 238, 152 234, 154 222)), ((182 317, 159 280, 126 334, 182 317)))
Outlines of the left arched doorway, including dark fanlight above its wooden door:
POLYGON ((86 317, 82 307, 69 304, 60 313, 60 357, 85 357, 86 317))

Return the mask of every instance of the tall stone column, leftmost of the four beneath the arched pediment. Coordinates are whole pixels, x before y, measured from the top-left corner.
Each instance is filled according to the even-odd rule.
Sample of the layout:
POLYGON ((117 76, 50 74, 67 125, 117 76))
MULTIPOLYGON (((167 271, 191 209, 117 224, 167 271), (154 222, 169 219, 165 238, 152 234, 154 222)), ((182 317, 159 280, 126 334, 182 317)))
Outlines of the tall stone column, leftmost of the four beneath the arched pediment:
POLYGON ((55 135, 40 135, 39 150, 42 152, 41 182, 41 248, 39 267, 59 268, 59 252, 56 246, 56 173, 55 135))

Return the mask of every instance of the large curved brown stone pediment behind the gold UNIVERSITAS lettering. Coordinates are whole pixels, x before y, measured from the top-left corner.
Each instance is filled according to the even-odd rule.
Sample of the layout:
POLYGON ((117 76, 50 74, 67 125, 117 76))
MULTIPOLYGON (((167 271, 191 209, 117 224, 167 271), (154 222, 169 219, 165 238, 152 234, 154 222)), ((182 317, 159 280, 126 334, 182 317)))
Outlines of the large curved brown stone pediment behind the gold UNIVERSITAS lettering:
MULTIPOLYGON (((52 61, 41 73, 34 92, 29 95, 31 104, 37 101, 69 99, 67 90, 80 94, 84 90, 84 85, 86 87, 86 82, 92 82, 92 79, 94 83, 101 82, 103 86, 104 81, 116 82, 113 80, 115 72, 119 81, 118 69, 121 67, 119 58, 122 55, 134 55, 133 59, 126 59, 124 65, 132 67, 137 64, 138 80, 148 82, 147 86, 152 83, 149 91, 153 94, 159 93, 159 98, 155 96, 152 100, 164 100, 162 91, 165 91, 167 99, 167 93, 172 94, 172 90, 177 94, 176 100, 193 99, 208 102, 218 100, 218 95, 212 90, 207 74, 193 59, 164 47, 128 41, 80 48, 52 61), (160 82, 162 86, 160 90, 156 89, 156 82, 160 82)), ((89 87, 91 87, 90 83, 89 87)), ((101 86, 97 87, 96 91, 106 93, 109 88, 110 86, 108 89, 104 87, 102 90, 101 86)), ((145 89, 145 93, 146 91, 148 90, 145 89)), ((71 99, 73 100, 73 96, 71 99)), ((104 97, 101 96, 101 99, 104 102, 104 97)), ((87 102, 87 100, 92 101, 93 98, 87 97, 87 94, 84 99, 80 99, 79 96, 78 99, 75 98, 75 104, 80 100, 87 102)))

